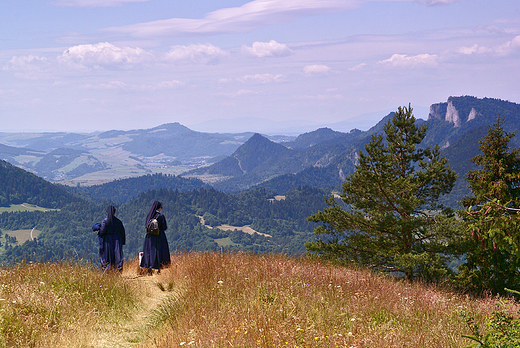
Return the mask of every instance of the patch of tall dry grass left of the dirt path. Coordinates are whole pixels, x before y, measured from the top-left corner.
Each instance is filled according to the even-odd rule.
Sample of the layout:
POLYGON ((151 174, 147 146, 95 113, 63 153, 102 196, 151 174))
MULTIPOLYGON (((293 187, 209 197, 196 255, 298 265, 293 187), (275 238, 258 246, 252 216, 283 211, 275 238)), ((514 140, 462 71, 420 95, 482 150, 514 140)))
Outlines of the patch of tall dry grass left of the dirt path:
POLYGON ((80 347, 100 323, 132 313, 138 292, 114 273, 74 263, 0 271, 0 347, 80 347))

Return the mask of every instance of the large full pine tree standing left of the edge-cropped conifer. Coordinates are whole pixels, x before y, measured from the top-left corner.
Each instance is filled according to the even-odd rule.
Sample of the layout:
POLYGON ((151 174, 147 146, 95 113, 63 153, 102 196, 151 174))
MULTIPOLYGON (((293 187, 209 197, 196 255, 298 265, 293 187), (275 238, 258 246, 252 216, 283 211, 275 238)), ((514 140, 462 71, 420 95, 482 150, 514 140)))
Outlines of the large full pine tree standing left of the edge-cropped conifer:
POLYGON ((324 211, 309 217, 321 223, 314 233, 325 240, 307 243, 307 250, 408 279, 446 274, 442 251, 449 234, 437 228, 437 200, 457 175, 438 146, 419 146, 427 125, 415 122, 411 106, 399 107, 384 136, 372 136, 343 183, 342 202, 331 197, 324 211))

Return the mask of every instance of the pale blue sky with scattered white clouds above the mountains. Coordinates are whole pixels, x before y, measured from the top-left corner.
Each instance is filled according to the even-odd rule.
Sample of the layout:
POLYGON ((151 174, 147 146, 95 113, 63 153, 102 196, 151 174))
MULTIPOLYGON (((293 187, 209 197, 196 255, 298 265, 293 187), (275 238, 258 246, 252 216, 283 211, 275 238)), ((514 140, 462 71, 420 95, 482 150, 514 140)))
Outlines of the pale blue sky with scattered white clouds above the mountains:
POLYGON ((363 129, 461 95, 520 102, 520 1, 0 5, 0 132, 363 129))

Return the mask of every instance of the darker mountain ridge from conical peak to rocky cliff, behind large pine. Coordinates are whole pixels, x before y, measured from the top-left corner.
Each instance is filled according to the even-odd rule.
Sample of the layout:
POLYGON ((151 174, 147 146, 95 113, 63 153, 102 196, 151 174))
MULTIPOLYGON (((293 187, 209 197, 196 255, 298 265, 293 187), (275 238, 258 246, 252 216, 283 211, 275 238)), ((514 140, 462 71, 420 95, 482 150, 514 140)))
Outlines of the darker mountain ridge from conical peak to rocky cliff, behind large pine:
MULTIPOLYGON (((445 103, 433 104, 427 121, 417 120, 418 125, 428 123, 423 146, 439 144, 449 164, 459 173, 454 196, 467 194, 464 175, 472 168, 469 158, 478 154, 478 141, 485 135, 487 126, 496 118, 506 120, 504 128, 520 130, 520 105, 498 99, 475 97, 450 97, 445 103)), ((350 133, 318 129, 300 135, 292 142, 284 143, 290 151, 272 150, 265 156, 254 143, 246 142, 228 158, 209 167, 187 172, 185 176, 221 175, 221 181, 212 185, 223 191, 241 191, 261 186, 283 193, 299 185, 320 188, 339 188, 344 178, 353 172, 359 151, 374 133, 382 133, 384 124, 393 116, 390 113, 367 132, 353 130, 350 133), (262 153, 262 155, 258 155, 262 153), (248 171, 229 170, 236 166, 236 159, 254 158, 255 167, 248 171)), ((256 134, 255 137, 261 137, 256 134)), ((513 144, 518 144, 515 137, 513 144)), ((259 141, 256 141, 259 143, 259 141)), ((269 148, 264 138, 262 146, 269 148)), ((515 145, 517 146, 517 145, 515 145)), ((249 159, 252 161, 252 159, 249 159)), ((454 198, 450 198, 452 201, 454 198)))

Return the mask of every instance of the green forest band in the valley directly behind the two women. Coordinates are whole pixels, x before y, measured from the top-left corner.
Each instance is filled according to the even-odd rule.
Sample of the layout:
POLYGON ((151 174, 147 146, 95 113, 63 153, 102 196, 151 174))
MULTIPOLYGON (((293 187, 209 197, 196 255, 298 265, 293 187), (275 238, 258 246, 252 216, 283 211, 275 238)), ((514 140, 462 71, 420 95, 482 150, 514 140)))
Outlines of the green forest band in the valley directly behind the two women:
MULTIPOLYGON (((222 249, 303 253, 304 244, 313 239, 315 227, 307 217, 325 207, 325 194, 320 189, 299 187, 288 192, 285 199, 276 200, 274 192, 262 188, 239 194, 227 194, 212 188, 188 192, 159 189, 142 193, 125 204, 116 204, 116 215, 126 229, 126 257, 135 257, 141 251, 144 220, 154 200, 163 202, 168 224, 166 235, 172 251, 222 249), (271 237, 210 228, 202 225, 200 217, 211 226, 248 225, 271 237)), ((36 227, 42 231, 35 241, 27 241, 6 251, 3 262, 22 259, 97 260, 97 235, 91 227, 105 217, 106 204, 84 201, 54 212, 0 214, 0 228, 36 227)))

